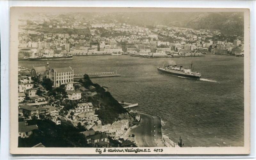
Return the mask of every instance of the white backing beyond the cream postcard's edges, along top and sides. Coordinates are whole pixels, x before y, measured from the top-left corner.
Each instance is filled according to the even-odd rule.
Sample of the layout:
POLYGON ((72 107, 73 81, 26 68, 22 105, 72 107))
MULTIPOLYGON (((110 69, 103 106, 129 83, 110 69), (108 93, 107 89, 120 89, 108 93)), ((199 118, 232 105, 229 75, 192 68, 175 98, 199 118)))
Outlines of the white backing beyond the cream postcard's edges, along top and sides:
MULTIPOLYGON (((236 1, 236 3, 232 3, 232 4, 230 4, 230 5, 227 5, 227 4, 229 4, 230 3, 230 1, 200 1, 200 2, 198 2, 198 1, 186 1, 186 4, 183 4, 183 2, 182 1, 175 1, 175 3, 173 4, 172 2, 166 2, 166 1, 161 1, 161 2, 159 2, 159 1, 150 1, 150 3, 146 3, 145 4, 145 1, 144 2, 142 2, 142 1, 136 1, 137 3, 136 4, 134 4, 133 2, 131 2, 130 1, 130 3, 128 2, 127 3, 127 1, 122 1, 122 3, 118 3, 117 5, 116 4, 112 4, 111 2, 110 3, 108 3, 108 1, 106 1, 105 3, 101 3, 102 1, 94 1, 93 3, 92 3, 92 1, 90 2, 90 1, 88 1, 88 2, 86 2, 86 5, 87 6, 127 6, 127 4, 129 5, 129 6, 137 6, 137 7, 140 7, 140 6, 149 6, 149 7, 153 7, 153 6, 155 6, 155 7, 162 7, 162 6, 165 6, 165 7, 181 7, 181 6, 183 6, 183 7, 197 7, 197 6, 200 6, 200 7, 226 7, 226 6, 228 6, 228 7, 246 7, 246 8, 251 8, 251 11, 253 12, 253 13, 251 13, 251 14, 253 14, 253 16, 251 17, 251 20, 254 22, 253 24, 252 24, 252 27, 254 26, 255 27, 255 20, 254 20, 254 18, 255 18, 255 9, 252 7, 253 6, 253 4, 252 4, 252 2, 250 3, 250 2, 248 2, 248 1, 236 1), (226 3, 226 5, 225 5, 225 3, 226 3), (97 4, 97 5, 95 5, 95 4, 97 4), (120 5, 121 4, 121 5, 120 5), (142 4, 142 5, 141 5, 142 4)), ((113 1, 112 1, 113 2, 113 1)), ((3 3, 2 3, 3 4, 3 3)), ((62 1, 61 3, 59 3, 59 1, 51 1, 51 2, 49 2, 49 1, 44 1, 44 2, 31 2, 31 1, 16 1, 16 3, 15 3, 15 1, 12 1, 9 5, 8 5, 8 2, 5 2, 4 3, 4 5, 0 5, 0 6, 2 6, 2 7, 8 7, 8 6, 12 6, 13 4, 19 4, 19 5, 25 5, 25 6, 28 6, 28 5, 36 5, 36 6, 42 6, 42 5, 55 5, 55 6, 63 6, 63 5, 65 5, 65 6, 82 6, 82 5, 85 5, 85 4, 81 4, 81 1, 80 2, 78 2, 78 1, 76 1, 76 2, 74 2, 74 1, 72 1, 72 4, 70 4, 69 2, 67 2, 67 1, 62 1), (80 4, 79 4, 80 3, 80 4)), ((2 9, 2 7, 1 7, 1 9, 2 9)), ((7 31, 8 30, 8 9, 4 9, 4 10, 2 10, 5 14, 4 15, 6 15, 6 17, 7 18, 4 18, 4 22, 1 20, 1 27, 2 26, 4 26, 5 27, 5 30, 7 31), (7 19, 7 20, 6 20, 7 19), (7 25, 5 24, 5 25, 3 25, 3 23, 7 23, 7 25), (7 26, 7 27, 6 27, 7 26), (7 29, 6 29, 7 28, 7 29)), ((3 15, 3 16, 4 16, 3 15)), ((252 34, 251 35, 255 35, 255 29, 254 28, 252 28, 252 34)), ((4 32, 4 34, 3 34, 3 27, 2 27, 2 30, 1 30, 1 50, 3 51, 3 50, 5 50, 5 51, 8 51, 8 49, 3 49, 3 46, 4 47, 6 47, 6 46, 8 46, 8 42, 5 42, 4 44, 5 45, 3 45, 3 37, 5 38, 5 39, 7 39, 8 38, 8 32, 7 33, 5 33, 4 32), (4 35, 4 36, 3 36, 4 35)), ((252 36, 252 38, 251 38, 251 40, 253 40, 254 39, 254 37, 252 36)), ((251 42, 251 44, 255 44, 255 41, 252 41, 251 42), (254 42, 254 43, 252 43, 252 42, 254 42)), ((254 46, 252 46, 252 50, 253 50, 253 53, 254 53, 254 51, 255 51, 255 48, 254 48, 254 46)), ((2 57, 2 54, 1 54, 1 57, 2 57)), ((4 56, 3 56, 4 57, 4 56)), ((251 61, 252 61, 252 67, 253 67, 253 69, 255 69, 255 63, 254 63, 254 60, 255 60, 255 56, 252 56, 254 59, 251 59, 251 61)), ((1 58, 2 59, 2 58, 1 58)), ((8 60, 8 56, 6 56, 6 57, 4 57, 4 59, 5 60, 8 60)), ((4 77, 4 75, 6 76, 7 75, 7 78, 8 78, 8 73, 6 73, 6 71, 8 72, 8 63, 4 63, 4 65, 5 66, 7 66, 7 70, 6 70, 6 68, 4 69, 4 68, 2 68, 2 66, 3 66, 3 63, 1 64, 1 79, 2 79, 2 82, 3 82, 3 79, 5 79, 6 80, 6 77, 4 77), (5 72, 2 72, 2 71, 5 71, 5 72), (4 75, 3 75, 3 73, 4 73, 4 75)), ((254 75, 254 73, 252 73, 252 75, 254 75)), ((254 80, 254 76, 252 76, 252 80, 254 80)), ((7 82, 8 82, 8 80, 7 80, 7 82)), ((7 83, 6 83, 7 84, 7 83)), ((252 85, 253 86, 253 85, 252 85)), ((3 85, 3 83, 1 83, 1 90, 3 91, 3 90, 5 90, 5 91, 8 91, 8 85, 6 86, 6 87, 4 87, 4 85, 3 85)), ((255 88, 253 87, 253 90, 252 90, 252 92, 253 92, 253 97, 255 97, 255 95, 254 95, 254 93, 255 93, 255 88)), ((3 92, 2 92, 3 93, 3 92)), ((3 94, 1 94, 1 98, 3 98, 4 96, 3 96, 3 94)), ((5 96, 6 97, 6 96, 5 96)), ((6 99, 4 99, 4 100, 2 100, 2 104, 3 104, 3 101, 4 101, 4 103, 5 103, 5 105, 6 104, 8 104, 8 96, 7 96, 7 98, 6 99)), ((255 104, 254 103, 254 101, 252 102, 253 104, 255 104)), ((1 105, 2 105, 1 104, 1 105)), ((3 106, 2 106, 3 107, 3 106)), ((254 109, 252 109, 252 111, 253 111, 253 113, 254 113, 254 109)), ((1 112, 1 114, 3 115, 3 113, 4 114, 6 114, 6 113, 8 113, 8 112, 6 112, 6 110, 4 110, 3 111, 3 109, 2 109, 2 112, 1 112)), ((8 116, 2 116, 2 118, 6 118, 6 117, 8 117, 8 116)), ((252 119, 252 120, 255 120, 255 117, 253 116, 252 118, 254 118, 254 119, 252 119)), ((7 118, 6 118, 6 120, 7 120, 7 118)), ((3 124, 3 122, 5 122, 6 123, 6 120, 5 121, 3 121, 3 119, 1 119, 1 121, 2 121, 2 124, 3 124)), ((2 125, 1 124, 1 125, 2 125)), ((254 124, 254 123, 253 123, 254 124)), ((2 125, 3 126, 3 125, 2 125)), ((5 125, 6 126, 6 125, 5 125)), ((7 125, 8 126, 8 125, 7 125)), ((253 128, 252 128, 252 130, 253 130, 253 132, 255 133, 255 127, 254 127, 254 125, 252 126, 253 128)), ((8 130, 7 130, 7 132, 8 132, 8 130)), ((5 146, 6 146, 6 141, 8 141, 8 138, 7 138, 7 140, 6 139, 4 139, 4 138, 6 138, 6 137, 8 137, 8 133, 6 133, 6 134, 4 134, 4 138, 3 138, 3 133, 6 133, 6 131, 3 131, 2 132, 2 130, 1 130, 1 157, 3 156, 3 141, 5 141, 5 146)), ((252 137, 254 137, 254 135, 252 135, 252 137)), ((254 148, 254 138, 253 138, 253 145, 252 145, 252 150, 253 150, 253 148, 254 148)), ((8 146, 8 145, 7 145, 8 146)), ((6 150, 6 148, 4 149, 4 150, 6 150)), ((5 154, 6 155, 6 154, 5 154)))

